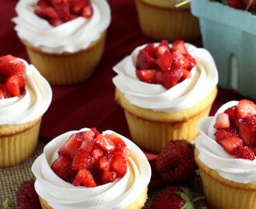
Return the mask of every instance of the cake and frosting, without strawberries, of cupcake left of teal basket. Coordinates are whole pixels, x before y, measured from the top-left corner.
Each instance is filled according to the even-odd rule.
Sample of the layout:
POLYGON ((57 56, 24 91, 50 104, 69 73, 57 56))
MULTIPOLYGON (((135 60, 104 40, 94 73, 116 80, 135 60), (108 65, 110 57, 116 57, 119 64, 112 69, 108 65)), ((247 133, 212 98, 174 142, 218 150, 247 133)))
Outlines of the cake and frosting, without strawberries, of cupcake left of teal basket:
POLYGON ((131 138, 151 152, 160 152, 173 139, 192 142, 199 134, 198 122, 209 115, 216 98, 218 75, 213 58, 208 51, 186 44, 197 60, 192 77, 166 89, 138 80, 137 54, 144 46, 113 68, 117 73, 113 78, 115 99, 124 110, 131 138))

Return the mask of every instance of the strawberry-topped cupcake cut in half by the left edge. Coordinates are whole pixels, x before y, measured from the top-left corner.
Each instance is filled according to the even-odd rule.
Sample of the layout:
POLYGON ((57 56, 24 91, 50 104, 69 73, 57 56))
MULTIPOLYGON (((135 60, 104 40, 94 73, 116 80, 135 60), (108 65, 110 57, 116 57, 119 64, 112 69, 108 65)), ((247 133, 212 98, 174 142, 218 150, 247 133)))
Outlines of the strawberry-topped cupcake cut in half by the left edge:
POLYGON ((11 55, 0 57, 0 167, 32 155, 51 99, 50 84, 33 65, 11 55))

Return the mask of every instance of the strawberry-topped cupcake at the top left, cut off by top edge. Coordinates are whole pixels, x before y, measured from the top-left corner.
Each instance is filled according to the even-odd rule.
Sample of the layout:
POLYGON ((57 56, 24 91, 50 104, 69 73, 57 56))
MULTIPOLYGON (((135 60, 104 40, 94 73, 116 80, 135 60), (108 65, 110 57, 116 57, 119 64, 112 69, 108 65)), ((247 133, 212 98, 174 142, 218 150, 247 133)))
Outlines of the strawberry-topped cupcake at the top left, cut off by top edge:
POLYGON ((93 73, 111 19, 106 0, 22 0, 16 13, 12 20, 29 60, 50 84, 76 84, 93 73))

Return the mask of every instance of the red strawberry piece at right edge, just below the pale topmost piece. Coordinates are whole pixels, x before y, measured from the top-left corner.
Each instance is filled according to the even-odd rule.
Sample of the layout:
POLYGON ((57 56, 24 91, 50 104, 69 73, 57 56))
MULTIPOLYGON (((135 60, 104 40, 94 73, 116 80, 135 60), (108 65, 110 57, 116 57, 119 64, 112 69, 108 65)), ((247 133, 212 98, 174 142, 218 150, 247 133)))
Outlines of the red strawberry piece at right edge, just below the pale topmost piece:
POLYGON ((239 134, 248 146, 256 146, 256 115, 240 120, 239 134))

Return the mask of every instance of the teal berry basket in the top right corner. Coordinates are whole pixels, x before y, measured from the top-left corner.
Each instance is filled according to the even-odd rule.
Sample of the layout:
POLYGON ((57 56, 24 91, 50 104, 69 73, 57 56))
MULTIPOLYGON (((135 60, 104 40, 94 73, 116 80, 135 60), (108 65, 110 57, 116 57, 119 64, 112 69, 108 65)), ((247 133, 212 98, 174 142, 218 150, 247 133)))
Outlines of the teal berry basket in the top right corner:
POLYGON ((256 99, 256 15, 213 0, 192 0, 191 12, 216 62, 219 86, 256 99))

